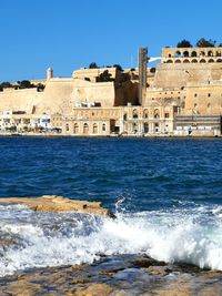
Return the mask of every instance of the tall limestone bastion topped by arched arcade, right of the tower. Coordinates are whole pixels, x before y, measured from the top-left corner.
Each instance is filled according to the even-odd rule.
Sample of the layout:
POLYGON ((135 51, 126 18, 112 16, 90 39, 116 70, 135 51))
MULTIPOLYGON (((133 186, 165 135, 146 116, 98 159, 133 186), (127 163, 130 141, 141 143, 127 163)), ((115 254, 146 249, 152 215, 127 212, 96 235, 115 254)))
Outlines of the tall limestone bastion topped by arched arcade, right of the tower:
POLYGON ((164 48, 147 100, 178 109, 174 134, 220 135, 222 48, 164 48))

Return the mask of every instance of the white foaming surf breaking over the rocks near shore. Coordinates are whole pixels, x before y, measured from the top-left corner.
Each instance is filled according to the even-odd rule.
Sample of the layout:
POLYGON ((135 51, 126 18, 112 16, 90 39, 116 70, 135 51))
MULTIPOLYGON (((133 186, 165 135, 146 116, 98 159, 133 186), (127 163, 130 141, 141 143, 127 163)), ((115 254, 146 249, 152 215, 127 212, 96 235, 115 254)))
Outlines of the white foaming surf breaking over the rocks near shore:
POLYGON ((222 271, 222 222, 216 207, 120 213, 117 220, 12 206, 0 208, 1 213, 0 234, 18 243, 0 247, 0 276, 134 253, 222 271))

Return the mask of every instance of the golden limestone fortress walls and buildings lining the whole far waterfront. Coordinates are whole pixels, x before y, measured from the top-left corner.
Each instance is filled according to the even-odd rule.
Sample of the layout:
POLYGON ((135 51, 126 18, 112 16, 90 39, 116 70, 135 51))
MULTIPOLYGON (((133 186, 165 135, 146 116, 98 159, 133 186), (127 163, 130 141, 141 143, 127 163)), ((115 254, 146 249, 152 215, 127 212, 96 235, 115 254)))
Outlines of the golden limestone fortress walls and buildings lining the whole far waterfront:
POLYGON ((157 70, 148 70, 142 105, 138 100, 138 69, 80 69, 71 78, 54 78, 49 68, 47 79, 41 80, 46 85, 42 92, 0 92, 0 130, 57 130, 73 136, 182 135, 211 130, 218 135, 221 54, 222 48, 163 49, 157 70), (110 80, 101 82, 99 76, 104 71, 110 80))

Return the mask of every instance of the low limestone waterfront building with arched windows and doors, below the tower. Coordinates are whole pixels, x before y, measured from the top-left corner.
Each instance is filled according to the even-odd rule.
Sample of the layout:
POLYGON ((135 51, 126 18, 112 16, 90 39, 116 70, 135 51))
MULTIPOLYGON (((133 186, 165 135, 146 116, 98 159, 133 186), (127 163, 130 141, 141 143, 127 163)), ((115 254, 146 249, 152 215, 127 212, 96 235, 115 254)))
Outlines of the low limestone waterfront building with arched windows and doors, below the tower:
POLYGON ((152 135, 172 134, 174 106, 118 106, 73 109, 63 119, 67 135, 152 135))

